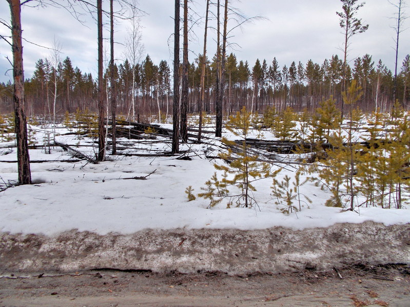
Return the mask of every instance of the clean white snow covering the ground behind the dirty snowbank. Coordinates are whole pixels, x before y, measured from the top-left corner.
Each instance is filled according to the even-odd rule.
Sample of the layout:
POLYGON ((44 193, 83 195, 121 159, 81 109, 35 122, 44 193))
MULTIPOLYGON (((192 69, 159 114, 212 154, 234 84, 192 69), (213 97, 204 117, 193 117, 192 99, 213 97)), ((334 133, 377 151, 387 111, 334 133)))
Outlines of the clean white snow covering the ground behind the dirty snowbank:
MULTIPOLYGON (((168 125, 169 126, 169 125, 168 125)), ((167 128, 169 128, 166 126, 167 128)), ((33 127, 32 127, 33 128, 33 127)), ((35 128, 35 127, 34 127, 35 128)), ((45 129, 38 128, 37 144, 43 144, 45 129)), ((65 128, 58 132, 67 132, 65 128)), ((232 138, 232 135, 227 135, 232 138)), ((265 135, 271 137, 271 135, 265 135)), ((57 141, 75 147, 76 150, 93 156, 95 144, 90 138, 77 139, 75 135, 60 135, 57 141)), ((152 144, 146 141, 118 139, 129 144, 127 153, 154 153, 155 150, 170 150, 169 139, 157 138, 152 144), (161 141, 163 140, 163 141, 161 141)), ((392 224, 410 222, 410 210, 357 208, 357 212, 341 212, 340 208, 325 207, 330 194, 307 182, 301 193, 313 203, 303 204, 300 212, 283 214, 280 206, 270 195, 272 179, 255 183, 254 192, 258 206, 226 209, 224 203, 207 209, 209 201, 197 197, 188 201, 185 189, 192 186, 197 194, 204 182, 213 174, 215 161, 205 158, 216 150, 208 144, 189 148, 192 160, 172 157, 108 156, 110 160, 97 165, 85 160, 62 162, 71 158, 71 153, 52 147, 51 154, 44 149, 31 149, 31 160, 51 162, 31 163, 31 186, 17 186, 0 192, 0 232, 55 235, 77 229, 98 234, 131 234, 144 229, 239 229, 258 230, 275 226, 294 230, 329 227, 336 223, 362 223, 375 221, 392 224), (147 176, 150 174, 149 176, 147 176), (125 179, 147 176, 146 180, 125 179)), ((0 183, 15 182, 17 165, 15 148, 7 148, 13 142, 0 143, 0 183)), ((182 150, 188 146, 181 146, 182 150)), ((217 155, 214 152, 210 155, 217 155)), ((74 158, 75 159, 75 158, 74 158)), ((279 174, 292 177, 296 169, 287 167, 279 174)), ((283 208, 283 207, 282 207, 283 208)))

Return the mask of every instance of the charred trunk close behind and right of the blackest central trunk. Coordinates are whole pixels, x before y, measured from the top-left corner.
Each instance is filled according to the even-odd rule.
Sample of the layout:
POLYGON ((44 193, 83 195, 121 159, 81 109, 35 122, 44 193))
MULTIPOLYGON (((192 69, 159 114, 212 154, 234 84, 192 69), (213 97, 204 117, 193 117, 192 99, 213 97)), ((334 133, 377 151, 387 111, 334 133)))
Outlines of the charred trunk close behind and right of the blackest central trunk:
POLYGON ((184 0, 184 48, 182 60, 181 138, 188 140, 188 0, 184 0))

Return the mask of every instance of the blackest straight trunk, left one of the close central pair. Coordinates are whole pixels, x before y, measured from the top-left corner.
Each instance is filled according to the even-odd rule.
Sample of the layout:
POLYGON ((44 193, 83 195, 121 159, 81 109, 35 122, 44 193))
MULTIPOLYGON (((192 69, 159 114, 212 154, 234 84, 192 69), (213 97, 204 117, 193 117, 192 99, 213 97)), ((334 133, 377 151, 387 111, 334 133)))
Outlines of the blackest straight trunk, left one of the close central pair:
POLYGON ((175 0, 174 17, 174 48, 173 48, 173 129, 172 153, 179 152, 180 128, 180 2, 175 0))

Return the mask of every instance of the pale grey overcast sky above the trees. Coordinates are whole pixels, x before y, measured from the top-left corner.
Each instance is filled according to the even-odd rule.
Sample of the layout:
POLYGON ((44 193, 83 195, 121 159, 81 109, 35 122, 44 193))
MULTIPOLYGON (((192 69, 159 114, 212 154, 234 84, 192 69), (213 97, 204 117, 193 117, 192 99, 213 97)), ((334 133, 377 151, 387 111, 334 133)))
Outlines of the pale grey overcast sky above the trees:
MULTIPOLYGON (((398 1, 398 0, 392 0, 398 1)), ((108 1, 103 1, 108 3, 108 1)), ((196 0, 190 4, 192 12, 204 15, 205 0, 196 0)), ((249 66, 255 64, 257 58, 266 59, 268 64, 274 57, 279 65, 289 67, 292 61, 301 61, 306 64, 309 59, 322 64, 325 58, 333 54, 342 57, 339 48, 342 47, 343 35, 339 27, 339 17, 336 11, 341 10, 340 0, 242 0, 231 1, 232 6, 238 8, 247 17, 261 15, 264 19, 255 20, 232 32, 230 38, 235 43, 234 49, 228 50, 236 54, 239 60, 248 60, 249 66)), ((107 4, 105 4, 107 5, 107 4)), ((142 35, 145 53, 149 54, 154 64, 160 60, 167 60, 172 66, 173 44, 173 0, 140 0, 139 6, 147 14, 141 17, 143 26, 142 35)), ((9 8, 6 1, 0 2, 0 18, 10 20, 9 8)), ((373 56, 375 64, 379 59, 389 68, 394 70, 395 52, 392 48, 395 43, 393 37, 395 24, 393 17, 396 9, 387 0, 368 0, 360 9, 358 17, 364 24, 369 24, 365 33, 357 34, 351 40, 349 60, 368 53, 373 56)), ((410 9, 407 8, 407 15, 410 9)), ((37 45, 52 47, 55 38, 62 44, 62 55, 71 58, 73 66, 79 67, 82 72, 91 72, 96 75, 96 24, 88 16, 85 26, 77 22, 66 10, 53 7, 31 8, 25 7, 22 11, 23 36, 37 45)), ((123 43, 126 37, 127 21, 116 25, 115 45, 117 62, 124 60, 123 43)), ((214 26, 210 21, 210 26, 214 26)), ((235 26, 233 22, 228 28, 235 26)), ((407 19, 405 28, 410 27, 407 19)), ((197 33, 197 38, 191 37, 189 60, 196 58, 198 52, 202 53, 203 23, 192 28, 197 33)), ((211 30, 212 31, 212 30, 211 30)), ((0 33, 9 35, 5 27, 0 25, 0 33)), ((108 33, 105 33, 108 37, 108 33)), ((410 30, 401 33, 399 46, 399 70, 402 60, 410 53, 410 30)), ((108 42, 106 50, 108 48, 108 42)), ((216 42, 208 40, 208 54, 214 54, 216 42)), ((32 76, 35 62, 39 58, 50 58, 51 50, 37 47, 24 42, 24 68, 25 77, 32 76)), ((0 82, 7 82, 12 78, 8 71, 11 65, 6 56, 12 59, 9 45, 0 42, 0 82)), ((353 62, 351 63, 353 65, 353 62)))

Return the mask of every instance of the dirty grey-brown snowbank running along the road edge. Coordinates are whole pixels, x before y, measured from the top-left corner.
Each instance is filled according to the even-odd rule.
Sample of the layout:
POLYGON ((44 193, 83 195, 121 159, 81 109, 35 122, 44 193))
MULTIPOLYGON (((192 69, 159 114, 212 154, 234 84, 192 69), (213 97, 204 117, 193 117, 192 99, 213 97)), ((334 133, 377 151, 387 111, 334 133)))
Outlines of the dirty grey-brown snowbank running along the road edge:
POLYGON ((105 236, 75 230, 53 237, 0 233, 0 273, 111 268, 158 273, 284 273, 345 263, 410 264, 410 224, 335 224, 292 230, 174 229, 105 236))

